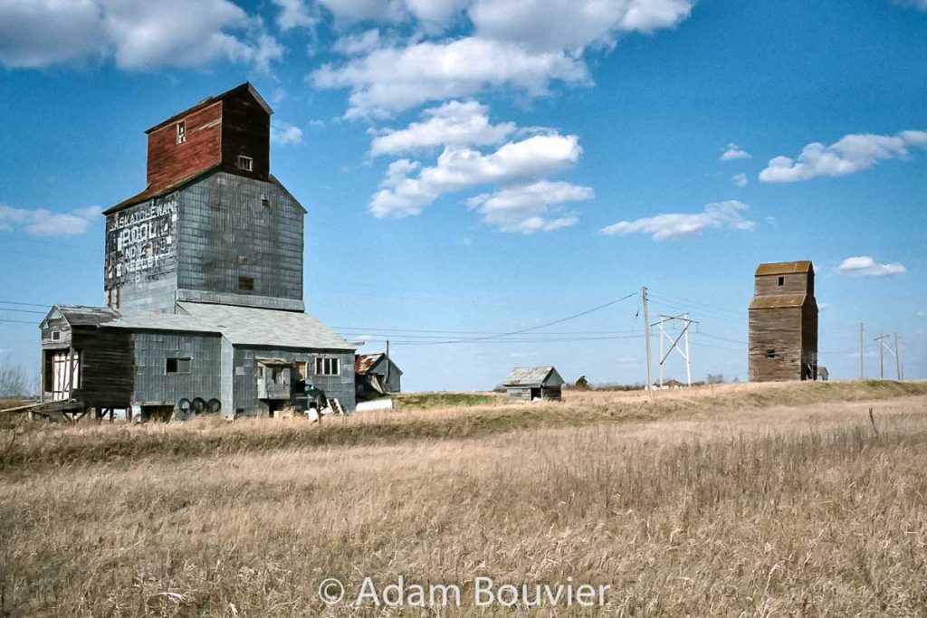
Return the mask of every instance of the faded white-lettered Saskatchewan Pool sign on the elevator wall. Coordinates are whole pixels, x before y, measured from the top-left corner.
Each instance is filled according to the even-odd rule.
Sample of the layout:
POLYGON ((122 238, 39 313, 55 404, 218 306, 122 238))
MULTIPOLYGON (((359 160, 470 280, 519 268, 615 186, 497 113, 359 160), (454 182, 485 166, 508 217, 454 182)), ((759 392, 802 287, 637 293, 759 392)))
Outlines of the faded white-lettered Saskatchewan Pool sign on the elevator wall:
POLYGON ((175 270, 177 205, 177 195, 169 195, 107 219, 107 290, 155 281, 175 270))

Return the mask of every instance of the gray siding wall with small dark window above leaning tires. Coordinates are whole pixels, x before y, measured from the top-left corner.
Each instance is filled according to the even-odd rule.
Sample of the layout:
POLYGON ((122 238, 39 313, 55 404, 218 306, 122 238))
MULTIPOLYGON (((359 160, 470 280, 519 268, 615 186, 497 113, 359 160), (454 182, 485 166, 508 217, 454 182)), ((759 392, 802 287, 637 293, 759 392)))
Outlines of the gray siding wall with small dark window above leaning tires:
MULTIPOLYGON (((222 342, 217 334, 135 333, 133 401, 175 405, 182 398, 222 399, 222 342), (167 373, 168 357, 189 358, 189 373, 167 373)), ((222 402, 225 409, 225 402, 222 402)))

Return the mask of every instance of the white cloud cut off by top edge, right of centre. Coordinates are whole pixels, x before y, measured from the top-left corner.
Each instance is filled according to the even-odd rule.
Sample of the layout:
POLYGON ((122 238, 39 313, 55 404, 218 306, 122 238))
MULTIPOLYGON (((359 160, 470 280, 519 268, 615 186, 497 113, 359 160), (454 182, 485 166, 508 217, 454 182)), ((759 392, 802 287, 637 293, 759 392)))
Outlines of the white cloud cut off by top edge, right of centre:
POLYGON ((690 0, 476 0, 468 13, 480 36, 534 49, 581 51, 611 45, 617 32, 652 32, 689 17, 690 0))

